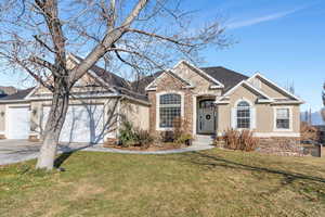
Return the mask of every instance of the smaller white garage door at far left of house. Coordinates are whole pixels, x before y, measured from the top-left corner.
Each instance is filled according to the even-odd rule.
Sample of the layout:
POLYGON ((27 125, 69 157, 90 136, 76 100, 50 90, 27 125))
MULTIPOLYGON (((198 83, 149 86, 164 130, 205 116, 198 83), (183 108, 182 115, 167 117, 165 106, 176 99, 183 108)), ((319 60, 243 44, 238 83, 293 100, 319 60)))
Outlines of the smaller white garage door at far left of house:
POLYGON ((25 107, 9 107, 8 139, 28 139, 30 111, 25 107))

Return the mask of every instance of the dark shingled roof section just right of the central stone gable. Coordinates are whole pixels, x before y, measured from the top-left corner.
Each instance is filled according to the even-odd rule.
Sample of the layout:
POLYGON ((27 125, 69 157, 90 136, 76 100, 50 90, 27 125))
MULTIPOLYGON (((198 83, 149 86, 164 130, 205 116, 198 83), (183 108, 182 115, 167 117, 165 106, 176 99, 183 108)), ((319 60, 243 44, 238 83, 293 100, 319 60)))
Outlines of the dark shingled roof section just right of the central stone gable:
POLYGON ((222 66, 202 67, 200 69, 213 77, 214 79, 222 82, 224 85, 223 92, 226 92, 227 90, 232 89, 242 80, 248 79, 248 76, 236 73, 222 66))

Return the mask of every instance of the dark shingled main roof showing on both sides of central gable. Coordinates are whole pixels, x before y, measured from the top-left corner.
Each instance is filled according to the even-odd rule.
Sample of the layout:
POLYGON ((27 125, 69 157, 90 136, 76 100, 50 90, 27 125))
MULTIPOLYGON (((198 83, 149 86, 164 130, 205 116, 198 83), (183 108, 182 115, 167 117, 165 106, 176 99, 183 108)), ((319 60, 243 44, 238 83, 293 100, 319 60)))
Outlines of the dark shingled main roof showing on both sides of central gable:
MULTIPOLYGON (((234 71, 227 69, 222 66, 214 66, 214 67, 202 67, 199 68, 203 72, 207 73, 212 78, 219 80, 224 85, 223 92, 235 87, 242 80, 246 80, 249 77, 234 71)), ((146 76, 138 81, 131 82, 131 87, 133 91, 138 91, 141 93, 145 93, 145 87, 148 86, 154 79, 156 79, 159 75, 162 74, 164 71, 159 71, 153 75, 146 76)))

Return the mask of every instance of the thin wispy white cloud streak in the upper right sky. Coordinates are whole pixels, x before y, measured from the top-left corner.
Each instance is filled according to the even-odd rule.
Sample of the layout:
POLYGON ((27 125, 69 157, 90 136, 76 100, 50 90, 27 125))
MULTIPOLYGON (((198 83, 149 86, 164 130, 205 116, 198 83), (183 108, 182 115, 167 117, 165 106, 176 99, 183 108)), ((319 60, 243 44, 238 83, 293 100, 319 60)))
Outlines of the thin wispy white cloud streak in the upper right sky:
POLYGON ((265 16, 259 16, 259 17, 255 17, 255 18, 251 18, 251 20, 232 22, 232 23, 229 23, 226 25, 226 28, 229 28, 229 29, 242 28, 242 27, 246 27, 246 26, 252 26, 252 25, 256 25, 256 24, 260 24, 260 23, 265 23, 265 22, 269 22, 269 21, 278 20, 278 18, 285 17, 287 15, 290 15, 292 13, 296 13, 296 12, 302 10, 302 9, 306 9, 306 7, 289 10, 289 11, 283 11, 283 12, 278 12, 278 13, 274 13, 274 14, 269 14, 269 15, 265 15, 265 16))

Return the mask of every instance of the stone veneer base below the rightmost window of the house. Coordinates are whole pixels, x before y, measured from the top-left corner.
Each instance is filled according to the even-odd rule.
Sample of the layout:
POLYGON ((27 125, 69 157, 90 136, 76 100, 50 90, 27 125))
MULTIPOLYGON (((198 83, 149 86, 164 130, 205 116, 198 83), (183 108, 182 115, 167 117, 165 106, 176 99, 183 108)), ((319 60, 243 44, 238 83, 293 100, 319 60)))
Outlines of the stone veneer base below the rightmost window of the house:
POLYGON ((300 138, 260 138, 258 152, 281 156, 302 156, 300 138))

